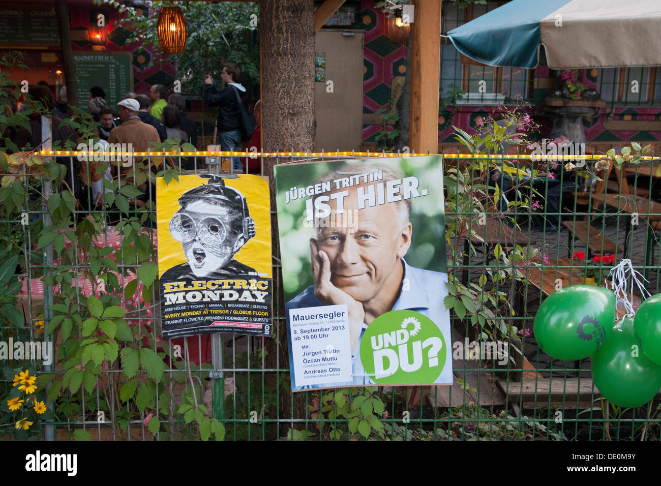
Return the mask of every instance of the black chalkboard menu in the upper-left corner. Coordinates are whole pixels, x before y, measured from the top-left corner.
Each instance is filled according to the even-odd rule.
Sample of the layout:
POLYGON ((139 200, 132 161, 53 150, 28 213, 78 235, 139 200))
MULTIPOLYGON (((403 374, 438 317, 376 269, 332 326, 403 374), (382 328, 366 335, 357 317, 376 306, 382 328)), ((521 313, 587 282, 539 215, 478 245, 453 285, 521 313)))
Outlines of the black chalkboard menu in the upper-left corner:
POLYGON ((0 9, 0 42, 11 44, 59 44, 55 11, 0 9))

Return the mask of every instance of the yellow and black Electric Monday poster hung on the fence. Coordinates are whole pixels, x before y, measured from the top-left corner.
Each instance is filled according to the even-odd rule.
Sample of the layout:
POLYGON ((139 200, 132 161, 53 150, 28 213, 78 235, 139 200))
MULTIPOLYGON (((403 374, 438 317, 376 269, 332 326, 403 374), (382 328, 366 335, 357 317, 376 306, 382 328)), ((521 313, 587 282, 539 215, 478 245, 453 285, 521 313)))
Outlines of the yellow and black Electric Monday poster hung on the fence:
POLYGON ((163 338, 272 334, 268 182, 180 175, 156 184, 163 338))

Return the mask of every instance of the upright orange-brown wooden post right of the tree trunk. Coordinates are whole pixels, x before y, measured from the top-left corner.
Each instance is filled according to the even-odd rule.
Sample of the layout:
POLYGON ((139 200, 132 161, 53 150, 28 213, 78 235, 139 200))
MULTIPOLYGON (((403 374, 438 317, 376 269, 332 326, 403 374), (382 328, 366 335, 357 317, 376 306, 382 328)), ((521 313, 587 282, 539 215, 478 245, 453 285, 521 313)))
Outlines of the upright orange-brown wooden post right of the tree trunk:
POLYGON ((416 0, 411 32, 409 141, 416 153, 436 153, 441 70, 440 1, 416 0))

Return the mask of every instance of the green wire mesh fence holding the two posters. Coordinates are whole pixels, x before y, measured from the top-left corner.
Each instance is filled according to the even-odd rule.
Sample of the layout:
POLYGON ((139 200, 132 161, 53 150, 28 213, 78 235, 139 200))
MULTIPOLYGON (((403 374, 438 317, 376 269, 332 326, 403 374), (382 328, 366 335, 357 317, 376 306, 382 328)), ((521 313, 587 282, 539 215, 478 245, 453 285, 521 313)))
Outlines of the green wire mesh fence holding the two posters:
MULTIPOLYGON (((202 175, 232 173, 231 163, 223 160, 228 155, 233 154, 150 158, 160 163, 165 158, 176 171, 202 175)), ((262 175, 280 163, 409 156, 259 155, 262 175)), ((605 276, 610 255, 615 261, 631 259, 646 278, 648 292, 660 292, 659 160, 648 157, 618 169, 588 157, 589 170, 565 171, 556 169, 553 159, 524 154, 507 159, 441 155, 444 181, 440 172, 438 181, 430 181, 446 188, 447 237, 439 244, 446 245, 452 281, 473 289, 476 297, 468 302, 457 294, 461 305, 450 311, 453 385, 292 393, 280 264, 280 253, 287 249, 278 243, 274 204, 273 337, 215 334, 161 340, 159 292, 145 284, 149 278, 144 273, 149 271, 145 263, 158 255, 153 186, 145 184, 142 201, 137 192, 108 183, 95 197, 91 186, 69 177, 75 172, 71 153, 59 151, 36 155, 40 160, 30 165, 23 161, 0 192, 6 206, 0 231, 18 256, 17 274, 4 283, 15 285, 20 311, 20 318, 3 311, 0 341, 54 343, 48 364, 8 356, 0 385, 3 404, 13 389, 15 369, 31 364, 37 376, 48 377, 36 384, 38 390, 48 389, 50 412, 26 433, 46 439, 87 437, 83 430, 93 440, 658 440, 658 395, 642 407, 608 403, 592 382, 590 358, 551 358, 535 341, 533 319, 553 292, 583 284, 586 269, 605 276), (49 159, 69 167, 59 186, 34 170, 49 159), (476 165, 477 159, 486 165, 476 165), (83 196, 72 200, 64 195, 75 188, 83 196), (54 218, 58 227, 44 237, 54 218), (115 319, 95 317, 90 296, 103 302, 103 312, 108 306, 123 309, 116 318, 133 333, 135 361, 124 347, 129 336, 124 343, 115 340, 121 346, 109 351, 115 360, 71 366, 93 335, 85 323, 115 319), (486 321, 481 309, 488 309, 486 321), (143 348, 161 364, 150 362, 156 358, 143 348), (152 375, 154 368, 162 373, 152 375)), ((603 280, 594 284, 603 285, 603 280)), ((636 292, 630 298, 634 307, 641 304, 636 292)), ((6 406, 3 415, 11 415, 6 406)), ((3 424, 3 432, 15 428, 9 419, 3 424)))

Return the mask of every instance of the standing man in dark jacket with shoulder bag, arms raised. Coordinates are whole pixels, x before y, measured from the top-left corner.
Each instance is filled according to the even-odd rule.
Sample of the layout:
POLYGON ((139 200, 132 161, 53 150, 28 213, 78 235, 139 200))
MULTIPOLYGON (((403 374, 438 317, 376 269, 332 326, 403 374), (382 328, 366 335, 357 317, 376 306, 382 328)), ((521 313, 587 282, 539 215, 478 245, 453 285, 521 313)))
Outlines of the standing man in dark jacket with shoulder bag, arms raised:
MULTIPOLYGON (((241 93, 246 89, 236 80, 239 79, 241 71, 236 64, 226 63, 223 65, 221 79, 225 83, 225 89, 220 93, 214 87, 214 78, 206 75, 204 78, 204 101, 209 106, 218 106, 218 136, 221 150, 241 151, 241 93)), ((245 108, 243 108, 245 110, 245 108)), ((252 133, 251 133, 252 134, 252 133)), ((251 136, 247 134, 247 136, 251 136)), ((239 157, 233 157, 232 166, 235 171, 241 171, 243 165, 239 157)))

